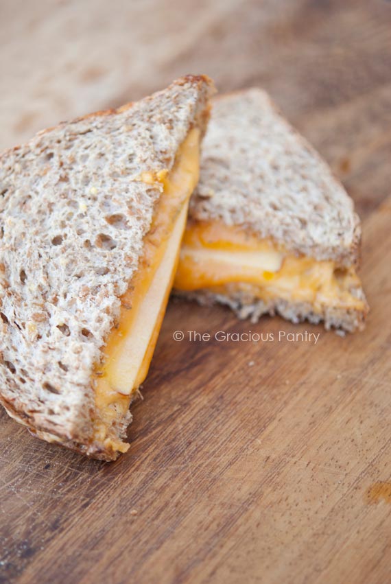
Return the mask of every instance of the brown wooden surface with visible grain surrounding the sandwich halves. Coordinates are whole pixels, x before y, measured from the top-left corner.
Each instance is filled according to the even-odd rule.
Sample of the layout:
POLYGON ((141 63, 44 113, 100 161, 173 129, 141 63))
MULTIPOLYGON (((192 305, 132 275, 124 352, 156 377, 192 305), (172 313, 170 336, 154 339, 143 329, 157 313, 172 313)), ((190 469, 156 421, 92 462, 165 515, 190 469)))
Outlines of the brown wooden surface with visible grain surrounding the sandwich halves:
POLYGON ((0 581, 390 582, 391 3, 2 0, 0 32, 2 147, 182 73, 264 86, 355 200, 371 306, 340 338, 171 302, 116 463, 1 411, 0 581))

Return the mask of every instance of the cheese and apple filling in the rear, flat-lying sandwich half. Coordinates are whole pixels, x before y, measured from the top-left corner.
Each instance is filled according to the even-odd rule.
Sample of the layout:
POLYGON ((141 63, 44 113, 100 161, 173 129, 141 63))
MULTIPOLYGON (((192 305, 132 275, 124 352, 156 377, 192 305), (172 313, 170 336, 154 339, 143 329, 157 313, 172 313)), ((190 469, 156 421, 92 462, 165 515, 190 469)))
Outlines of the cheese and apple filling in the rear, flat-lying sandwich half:
POLYGON ((325 305, 364 309, 364 301, 351 292, 361 288, 354 268, 289 253, 271 239, 222 222, 189 221, 174 288, 306 302, 319 314, 325 305))

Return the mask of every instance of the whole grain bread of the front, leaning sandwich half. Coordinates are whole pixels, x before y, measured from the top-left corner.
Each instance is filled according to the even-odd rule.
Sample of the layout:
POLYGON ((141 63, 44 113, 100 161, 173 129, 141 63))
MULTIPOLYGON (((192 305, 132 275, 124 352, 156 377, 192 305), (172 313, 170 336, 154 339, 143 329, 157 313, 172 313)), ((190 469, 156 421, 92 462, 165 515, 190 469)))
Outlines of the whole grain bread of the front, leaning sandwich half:
POLYGON ((204 132, 212 91, 189 75, 0 156, 0 401, 45 440, 116 456, 93 441, 91 375, 161 196, 140 175, 170 170, 189 129, 204 132))

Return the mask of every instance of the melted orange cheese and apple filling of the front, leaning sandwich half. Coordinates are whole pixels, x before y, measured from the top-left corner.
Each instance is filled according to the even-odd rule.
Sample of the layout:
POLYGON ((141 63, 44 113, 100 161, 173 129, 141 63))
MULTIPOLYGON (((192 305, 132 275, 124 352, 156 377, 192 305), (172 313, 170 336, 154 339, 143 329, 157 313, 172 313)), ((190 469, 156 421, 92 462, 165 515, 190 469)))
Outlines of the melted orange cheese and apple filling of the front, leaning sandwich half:
POLYGON ((102 364, 93 379, 94 439, 119 452, 126 452, 129 445, 113 437, 112 425, 126 415, 150 366, 178 266, 189 198, 198 182, 199 153, 200 130, 193 128, 169 173, 148 172, 140 177, 147 183, 161 183, 162 194, 144 237, 137 272, 121 298, 118 326, 106 340, 102 364))

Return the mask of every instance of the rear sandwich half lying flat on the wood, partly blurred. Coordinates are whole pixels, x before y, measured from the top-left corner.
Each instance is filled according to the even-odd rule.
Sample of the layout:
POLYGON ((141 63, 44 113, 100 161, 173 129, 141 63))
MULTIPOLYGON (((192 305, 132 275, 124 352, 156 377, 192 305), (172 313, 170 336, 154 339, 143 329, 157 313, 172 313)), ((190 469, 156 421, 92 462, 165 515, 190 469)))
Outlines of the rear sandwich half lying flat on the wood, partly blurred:
POLYGON ((315 150, 259 89, 217 97, 174 287, 239 318, 362 329, 361 228, 315 150))

